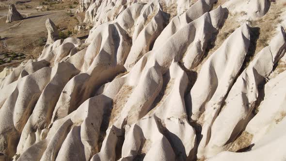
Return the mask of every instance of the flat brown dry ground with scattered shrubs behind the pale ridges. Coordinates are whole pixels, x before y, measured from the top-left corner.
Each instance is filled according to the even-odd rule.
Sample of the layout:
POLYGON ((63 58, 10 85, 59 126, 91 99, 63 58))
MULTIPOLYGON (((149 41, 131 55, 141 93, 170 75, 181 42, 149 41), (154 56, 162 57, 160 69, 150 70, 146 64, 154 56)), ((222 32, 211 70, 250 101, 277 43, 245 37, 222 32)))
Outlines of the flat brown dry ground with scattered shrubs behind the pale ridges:
POLYGON ((45 1, 45 0, 8 0, 0 2, 0 71, 5 66, 16 66, 23 60, 37 58, 44 48, 47 39, 45 21, 50 18, 60 31, 62 38, 73 36, 74 27, 82 23, 84 14, 75 14, 78 1, 45 1), (24 2, 18 3, 16 2, 24 2), (23 20, 5 23, 10 3, 24 16, 23 20), (43 7, 42 9, 37 9, 43 7), (16 55, 16 57, 15 57, 16 55), (23 55, 23 56, 22 56, 23 55))

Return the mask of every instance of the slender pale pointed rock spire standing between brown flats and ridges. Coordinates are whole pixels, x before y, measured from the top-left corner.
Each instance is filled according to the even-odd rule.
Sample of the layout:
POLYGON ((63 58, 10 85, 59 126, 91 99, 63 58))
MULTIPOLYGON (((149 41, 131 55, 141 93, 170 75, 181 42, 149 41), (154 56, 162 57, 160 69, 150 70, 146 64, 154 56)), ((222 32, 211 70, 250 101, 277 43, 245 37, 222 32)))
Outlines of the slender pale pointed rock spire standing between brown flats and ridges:
POLYGON ((52 44, 59 39, 59 32, 56 25, 49 18, 46 20, 46 28, 48 30, 47 44, 52 44))

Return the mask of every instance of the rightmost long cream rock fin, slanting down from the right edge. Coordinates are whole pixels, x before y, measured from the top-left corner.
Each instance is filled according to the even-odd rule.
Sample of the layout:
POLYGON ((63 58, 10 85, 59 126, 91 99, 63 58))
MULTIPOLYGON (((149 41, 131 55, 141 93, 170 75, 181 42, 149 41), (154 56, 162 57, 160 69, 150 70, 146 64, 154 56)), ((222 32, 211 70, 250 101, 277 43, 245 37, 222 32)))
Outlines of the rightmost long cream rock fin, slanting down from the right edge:
MULTIPOLYGON (((229 140, 234 140, 234 138, 236 138, 236 136, 238 136, 238 134, 246 127, 248 121, 252 117, 255 101, 258 99, 258 86, 270 75, 273 70, 273 65, 276 64, 285 53, 285 38, 286 33, 284 29, 281 29, 272 39, 270 45, 257 53, 254 60, 246 69, 244 69, 232 86, 225 99, 225 105, 222 106, 222 111, 215 118, 211 127, 212 134, 206 151, 208 157, 214 156, 223 150, 227 150, 229 148, 227 142, 229 140)), ((268 91, 265 91, 266 94, 267 92, 268 91)), ((267 103, 267 97, 269 97, 268 94, 265 96, 263 104, 267 103)), ((278 103, 279 101, 277 100, 275 102, 278 103)), ((275 107, 279 108, 279 106, 275 107)), ((274 113, 274 110, 275 109, 272 109, 271 113, 274 113)), ((266 121, 266 118, 269 116, 265 116, 263 119, 260 118, 259 123, 257 123, 257 119, 261 117, 260 115, 262 113, 265 112, 261 111, 259 114, 257 113, 248 124, 249 129, 246 129, 248 131, 247 133, 254 135, 254 143, 256 140, 255 135, 259 131, 258 129, 262 130, 262 127, 259 127, 268 124, 265 123, 260 125, 260 123, 266 121)), ((276 117, 279 117, 278 114, 276 117)))

